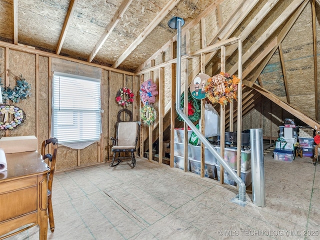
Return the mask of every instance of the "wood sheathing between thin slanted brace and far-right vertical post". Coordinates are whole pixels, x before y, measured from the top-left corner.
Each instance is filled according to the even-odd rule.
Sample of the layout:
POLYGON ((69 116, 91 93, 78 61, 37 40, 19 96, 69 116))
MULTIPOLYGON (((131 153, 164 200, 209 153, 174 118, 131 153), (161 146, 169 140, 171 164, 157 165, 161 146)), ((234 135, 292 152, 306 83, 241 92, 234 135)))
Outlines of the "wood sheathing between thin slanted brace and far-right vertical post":
POLYGON ((290 104, 315 117, 311 15, 311 5, 307 4, 283 39, 282 50, 290 104))

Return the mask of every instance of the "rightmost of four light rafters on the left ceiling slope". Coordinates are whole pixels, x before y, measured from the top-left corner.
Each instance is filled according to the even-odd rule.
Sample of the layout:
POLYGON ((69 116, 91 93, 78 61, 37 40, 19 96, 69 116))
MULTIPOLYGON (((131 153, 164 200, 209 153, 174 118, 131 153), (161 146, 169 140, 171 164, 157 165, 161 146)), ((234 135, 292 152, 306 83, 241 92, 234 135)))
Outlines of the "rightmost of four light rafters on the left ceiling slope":
POLYGON ((148 34, 166 17, 166 15, 179 3, 180 0, 169 0, 161 11, 152 19, 145 29, 135 38, 128 48, 120 55, 120 57, 112 64, 113 68, 117 68, 122 61, 147 37, 148 34))

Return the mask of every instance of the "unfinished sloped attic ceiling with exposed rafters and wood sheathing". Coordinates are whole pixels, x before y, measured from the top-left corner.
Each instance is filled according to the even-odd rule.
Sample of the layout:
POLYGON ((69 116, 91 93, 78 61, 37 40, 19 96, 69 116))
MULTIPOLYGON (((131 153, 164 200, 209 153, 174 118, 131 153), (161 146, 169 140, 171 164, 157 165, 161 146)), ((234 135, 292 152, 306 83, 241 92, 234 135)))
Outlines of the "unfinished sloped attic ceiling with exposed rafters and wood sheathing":
MULTIPOLYGON (((139 73, 174 40, 172 16, 187 27, 208 9, 216 17, 206 22, 206 44, 242 39, 243 83, 253 95, 317 123, 319 0, 1 0, 0 40, 139 73)), ((238 59, 232 47, 226 48, 231 74, 238 59)), ((206 73, 217 71, 219 53, 206 54, 206 73)))

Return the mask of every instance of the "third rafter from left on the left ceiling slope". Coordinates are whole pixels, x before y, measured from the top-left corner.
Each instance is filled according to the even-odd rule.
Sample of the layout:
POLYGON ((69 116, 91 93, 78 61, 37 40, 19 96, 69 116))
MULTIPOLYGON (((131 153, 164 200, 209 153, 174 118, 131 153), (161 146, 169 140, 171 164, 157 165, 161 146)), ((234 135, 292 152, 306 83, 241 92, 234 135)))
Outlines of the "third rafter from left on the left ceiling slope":
POLYGON ((105 28, 103 34, 100 36, 100 39, 97 41, 95 44, 94 48, 92 49, 90 55, 88 56, 88 62, 91 62, 102 47, 103 43, 106 41, 106 39, 109 37, 110 33, 118 23, 118 21, 121 19, 123 16, 124 12, 127 10, 129 5, 131 4, 132 0, 123 0, 119 8, 116 10, 115 14, 113 15, 110 23, 107 25, 105 28))

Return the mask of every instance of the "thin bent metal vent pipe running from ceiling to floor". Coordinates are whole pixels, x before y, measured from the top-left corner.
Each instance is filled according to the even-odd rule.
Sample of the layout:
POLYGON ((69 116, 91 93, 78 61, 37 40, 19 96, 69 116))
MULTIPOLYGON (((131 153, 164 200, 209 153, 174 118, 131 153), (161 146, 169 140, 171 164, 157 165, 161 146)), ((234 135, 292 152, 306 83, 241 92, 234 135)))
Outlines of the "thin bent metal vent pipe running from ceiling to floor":
MULTIPOLYGON (((187 115, 183 113, 182 108, 180 107, 181 101, 181 26, 183 25, 184 20, 181 17, 174 16, 168 21, 168 25, 171 28, 177 29, 177 37, 176 37, 176 91, 175 91, 175 109, 177 114, 185 121, 185 123, 191 128, 193 132, 199 137, 199 139, 203 142, 203 144, 208 148, 208 150, 217 158, 220 164, 224 167, 224 169, 231 175, 231 177, 238 184, 238 202, 236 199, 235 203, 239 205, 244 205, 245 202, 245 184, 242 179, 235 174, 234 170, 227 164, 224 159, 220 156, 220 154, 215 150, 215 148, 210 144, 210 142, 202 135, 202 133, 196 128, 196 126, 189 120, 187 115)), ((187 79, 187 78, 186 78, 187 79)))

